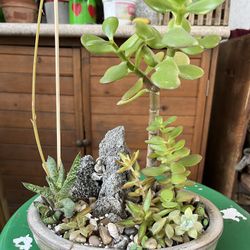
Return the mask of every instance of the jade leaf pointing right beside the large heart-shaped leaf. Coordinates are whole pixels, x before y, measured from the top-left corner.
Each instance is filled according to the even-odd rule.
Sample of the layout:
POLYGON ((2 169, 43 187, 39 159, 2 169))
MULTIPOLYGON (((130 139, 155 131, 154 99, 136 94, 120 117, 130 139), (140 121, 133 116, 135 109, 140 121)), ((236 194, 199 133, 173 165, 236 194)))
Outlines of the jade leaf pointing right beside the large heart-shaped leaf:
POLYGON ((179 76, 187 80, 201 78, 204 74, 203 69, 196 65, 180 65, 178 67, 180 71, 179 76))

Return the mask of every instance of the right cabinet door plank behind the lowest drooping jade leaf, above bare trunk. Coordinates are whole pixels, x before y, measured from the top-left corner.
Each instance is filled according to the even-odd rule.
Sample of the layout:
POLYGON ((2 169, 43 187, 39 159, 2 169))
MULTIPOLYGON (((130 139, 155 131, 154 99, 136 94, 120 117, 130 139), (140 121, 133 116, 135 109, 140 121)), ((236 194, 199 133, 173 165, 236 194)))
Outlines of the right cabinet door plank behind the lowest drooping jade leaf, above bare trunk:
MULTIPOLYGON (((131 88, 137 81, 136 76, 129 76, 125 79, 119 80, 114 84, 100 84, 101 77, 91 77, 91 96, 93 97, 121 97, 129 88, 131 88)), ((165 96, 185 96, 196 97, 199 87, 197 81, 183 80, 181 87, 175 90, 161 91, 161 97, 165 96)))

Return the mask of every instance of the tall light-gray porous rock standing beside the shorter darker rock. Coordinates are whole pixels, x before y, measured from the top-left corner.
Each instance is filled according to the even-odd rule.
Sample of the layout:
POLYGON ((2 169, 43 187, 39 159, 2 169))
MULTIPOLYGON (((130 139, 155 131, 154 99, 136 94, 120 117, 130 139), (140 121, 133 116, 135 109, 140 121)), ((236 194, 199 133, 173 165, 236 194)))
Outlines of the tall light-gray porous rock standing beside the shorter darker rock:
MULTIPOLYGON (((102 187, 94 208, 96 217, 113 213, 119 217, 125 217, 124 198, 125 191, 121 189, 127 182, 127 173, 118 174, 120 165, 120 153, 129 153, 125 143, 125 129, 123 126, 116 127, 107 132, 99 145, 99 159, 105 166, 102 178, 102 187)), ((118 218, 119 218, 118 217, 118 218)))

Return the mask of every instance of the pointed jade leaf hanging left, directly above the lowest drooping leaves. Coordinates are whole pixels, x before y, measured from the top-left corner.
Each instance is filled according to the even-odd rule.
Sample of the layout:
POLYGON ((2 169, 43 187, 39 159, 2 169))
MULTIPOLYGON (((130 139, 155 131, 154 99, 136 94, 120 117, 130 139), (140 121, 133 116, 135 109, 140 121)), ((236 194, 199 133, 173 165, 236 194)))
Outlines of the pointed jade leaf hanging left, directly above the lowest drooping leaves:
POLYGON ((117 80, 122 79, 123 77, 127 76, 129 73, 128 66, 126 62, 121 62, 118 65, 110 67, 101 78, 100 82, 111 83, 117 80))

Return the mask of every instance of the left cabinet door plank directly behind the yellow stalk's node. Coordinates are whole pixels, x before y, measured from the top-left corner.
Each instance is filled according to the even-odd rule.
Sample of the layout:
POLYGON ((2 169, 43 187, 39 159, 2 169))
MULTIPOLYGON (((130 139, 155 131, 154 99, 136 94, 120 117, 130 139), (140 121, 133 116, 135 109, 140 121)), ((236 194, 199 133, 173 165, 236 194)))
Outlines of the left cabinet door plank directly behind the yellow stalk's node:
MULTIPOLYGON (((0 111, 0 127, 2 128, 31 128, 31 112, 0 111)), ((56 118, 54 113, 37 112, 37 124, 39 129, 54 129, 56 118)), ((62 129, 75 128, 74 114, 61 115, 62 129)))

